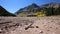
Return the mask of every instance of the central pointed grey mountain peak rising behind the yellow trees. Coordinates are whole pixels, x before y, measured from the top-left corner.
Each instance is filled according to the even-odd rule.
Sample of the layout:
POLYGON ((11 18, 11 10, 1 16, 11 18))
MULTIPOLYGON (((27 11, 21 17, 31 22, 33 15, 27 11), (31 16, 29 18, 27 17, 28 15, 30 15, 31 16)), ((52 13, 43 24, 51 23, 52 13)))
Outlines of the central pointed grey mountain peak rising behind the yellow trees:
POLYGON ((35 3, 33 3, 32 5, 29 5, 27 7, 24 7, 22 9, 19 9, 15 14, 19 14, 19 13, 30 13, 33 12, 34 10, 38 10, 40 7, 38 5, 36 5, 35 3))

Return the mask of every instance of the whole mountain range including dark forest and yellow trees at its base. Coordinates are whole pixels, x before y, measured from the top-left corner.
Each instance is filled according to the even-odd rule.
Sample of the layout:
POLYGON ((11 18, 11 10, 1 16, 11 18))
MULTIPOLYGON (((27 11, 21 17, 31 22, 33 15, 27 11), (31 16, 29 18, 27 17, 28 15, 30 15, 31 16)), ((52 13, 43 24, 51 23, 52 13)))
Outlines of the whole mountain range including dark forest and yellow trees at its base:
POLYGON ((35 3, 33 3, 32 5, 19 9, 15 14, 18 16, 22 14, 23 16, 24 15, 26 16, 60 15, 60 3, 51 2, 48 4, 41 5, 41 6, 38 6, 35 3))

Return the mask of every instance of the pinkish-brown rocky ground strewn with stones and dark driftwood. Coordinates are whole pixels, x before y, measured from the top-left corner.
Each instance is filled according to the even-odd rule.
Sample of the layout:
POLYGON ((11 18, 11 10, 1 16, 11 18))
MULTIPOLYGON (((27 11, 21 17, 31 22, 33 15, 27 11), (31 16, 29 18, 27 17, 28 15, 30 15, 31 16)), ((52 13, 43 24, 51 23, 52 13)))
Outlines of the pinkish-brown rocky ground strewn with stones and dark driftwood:
POLYGON ((0 34, 60 34, 60 17, 0 17, 0 34))

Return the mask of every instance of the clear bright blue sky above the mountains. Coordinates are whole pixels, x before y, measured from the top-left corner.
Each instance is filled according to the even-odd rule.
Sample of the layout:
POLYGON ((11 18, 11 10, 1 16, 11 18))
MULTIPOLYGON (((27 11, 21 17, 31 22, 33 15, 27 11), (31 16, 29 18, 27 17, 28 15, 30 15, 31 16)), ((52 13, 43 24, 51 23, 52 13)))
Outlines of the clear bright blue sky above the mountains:
POLYGON ((7 11, 14 13, 20 8, 24 8, 32 3, 43 5, 49 2, 60 2, 60 0, 0 0, 0 5, 3 6, 7 11))

